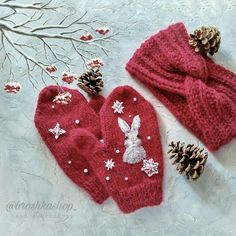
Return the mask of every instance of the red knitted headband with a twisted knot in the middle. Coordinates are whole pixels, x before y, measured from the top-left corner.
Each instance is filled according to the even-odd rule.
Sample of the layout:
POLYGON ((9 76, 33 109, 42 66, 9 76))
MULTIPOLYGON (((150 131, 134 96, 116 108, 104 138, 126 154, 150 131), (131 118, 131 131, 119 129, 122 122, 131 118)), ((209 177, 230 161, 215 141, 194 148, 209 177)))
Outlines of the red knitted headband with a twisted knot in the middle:
POLYGON ((184 24, 173 24, 142 43, 126 69, 214 151, 236 136, 236 75, 188 39, 184 24))

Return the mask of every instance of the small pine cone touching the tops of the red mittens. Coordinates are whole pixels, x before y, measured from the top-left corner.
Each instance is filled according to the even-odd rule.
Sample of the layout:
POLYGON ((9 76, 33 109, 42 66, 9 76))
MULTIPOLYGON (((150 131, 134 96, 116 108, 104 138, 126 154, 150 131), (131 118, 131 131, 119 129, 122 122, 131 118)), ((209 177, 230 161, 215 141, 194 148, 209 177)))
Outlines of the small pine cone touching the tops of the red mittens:
POLYGON ((102 91, 103 80, 102 74, 99 70, 89 70, 84 72, 78 79, 77 84, 81 89, 83 89, 88 94, 98 94, 102 91))

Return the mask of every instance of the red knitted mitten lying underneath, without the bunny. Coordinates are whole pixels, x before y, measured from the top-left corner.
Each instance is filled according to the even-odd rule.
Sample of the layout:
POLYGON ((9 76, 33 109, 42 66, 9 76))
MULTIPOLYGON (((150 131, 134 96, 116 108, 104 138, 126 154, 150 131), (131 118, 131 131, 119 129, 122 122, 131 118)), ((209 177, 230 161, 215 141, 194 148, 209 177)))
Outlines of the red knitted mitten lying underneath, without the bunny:
POLYGON ((86 190, 95 202, 102 203, 108 198, 107 191, 88 161, 80 155, 79 151, 72 148, 73 143, 70 139, 71 131, 77 128, 85 128, 100 138, 99 116, 77 90, 65 87, 63 90, 72 95, 72 102, 67 105, 52 102, 58 94, 57 86, 48 86, 40 92, 34 117, 35 126, 65 174, 86 190), (76 120, 79 120, 79 124, 76 120), (56 123, 66 131, 57 140, 49 132, 56 123))

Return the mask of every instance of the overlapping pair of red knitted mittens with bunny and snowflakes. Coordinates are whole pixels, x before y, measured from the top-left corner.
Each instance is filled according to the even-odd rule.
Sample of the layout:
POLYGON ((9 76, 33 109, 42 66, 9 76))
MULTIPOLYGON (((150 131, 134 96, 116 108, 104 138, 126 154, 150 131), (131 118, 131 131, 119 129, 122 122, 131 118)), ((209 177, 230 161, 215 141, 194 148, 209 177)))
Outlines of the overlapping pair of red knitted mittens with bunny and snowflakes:
POLYGON ((160 204, 163 157, 152 105, 129 86, 89 102, 63 90, 72 95, 68 104, 52 102, 57 86, 40 92, 35 125, 66 175, 97 203, 112 196, 124 213, 160 204), (58 137, 55 128, 63 129, 58 137))

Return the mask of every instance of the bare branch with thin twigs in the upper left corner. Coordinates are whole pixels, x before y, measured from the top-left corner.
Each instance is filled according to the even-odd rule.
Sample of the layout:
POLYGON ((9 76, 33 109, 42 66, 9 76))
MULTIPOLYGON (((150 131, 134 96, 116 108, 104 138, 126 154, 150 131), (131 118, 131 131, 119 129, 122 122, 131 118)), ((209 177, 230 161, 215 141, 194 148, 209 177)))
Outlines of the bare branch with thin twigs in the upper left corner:
MULTIPOLYGON (((71 66, 76 66, 73 64, 71 53, 69 54, 66 50, 67 47, 64 47, 64 43, 72 46, 72 54, 76 53, 85 66, 87 66, 87 60, 96 56, 96 49, 102 50, 106 55, 111 52, 104 46, 104 43, 112 41, 117 35, 116 33, 89 40, 80 39, 78 32, 90 33, 95 31, 94 24, 98 24, 98 20, 95 18, 93 20, 85 19, 87 12, 72 20, 71 18, 74 18, 75 15, 73 12, 64 16, 59 23, 50 24, 50 18, 45 17, 44 10, 56 10, 61 6, 53 6, 51 4, 53 0, 46 1, 46 3, 35 2, 25 5, 16 3, 14 0, 4 0, 0 3, 0 9, 8 8, 10 10, 10 13, 0 17, 0 44, 2 44, 0 52, 3 54, 1 65, 2 69, 5 69, 6 65, 9 68, 9 79, 14 78, 13 62, 17 63, 15 54, 24 58, 27 68, 26 74, 33 86, 32 73, 36 68, 41 70, 41 79, 45 85, 44 76, 47 75, 59 86, 57 76, 47 71, 48 66, 52 65, 53 61, 55 64, 62 64, 67 70, 70 70, 71 66), (18 14, 24 15, 24 20, 20 23, 16 21, 17 18, 15 17, 18 14), (33 27, 32 22, 40 22, 40 25, 33 27), (13 40, 15 36, 18 36, 16 37, 17 41, 13 40), (25 41, 26 38, 34 39, 33 42, 36 42, 36 46, 25 41), (63 41, 63 47, 57 45, 59 40, 63 41), (38 51, 37 45, 42 45, 43 51, 38 51), (13 53, 10 53, 9 49, 13 50, 13 53), (40 58, 43 59, 40 60, 42 61, 32 56, 38 53, 41 53, 40 58)), ((60 86, 59 89, 63 91, 60 86)))

